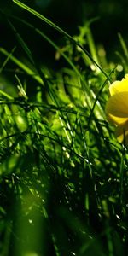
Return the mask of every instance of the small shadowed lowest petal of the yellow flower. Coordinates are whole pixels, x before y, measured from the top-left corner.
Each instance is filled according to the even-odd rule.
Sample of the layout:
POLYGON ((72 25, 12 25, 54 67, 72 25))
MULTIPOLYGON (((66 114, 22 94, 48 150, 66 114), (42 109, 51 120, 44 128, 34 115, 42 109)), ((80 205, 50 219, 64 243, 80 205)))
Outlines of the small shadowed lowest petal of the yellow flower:
POLYGON ((128 145, 128 121, 117 126, 115 135, 119 143, 123 143, 123 141, 125 141, 125 144, 128 145))

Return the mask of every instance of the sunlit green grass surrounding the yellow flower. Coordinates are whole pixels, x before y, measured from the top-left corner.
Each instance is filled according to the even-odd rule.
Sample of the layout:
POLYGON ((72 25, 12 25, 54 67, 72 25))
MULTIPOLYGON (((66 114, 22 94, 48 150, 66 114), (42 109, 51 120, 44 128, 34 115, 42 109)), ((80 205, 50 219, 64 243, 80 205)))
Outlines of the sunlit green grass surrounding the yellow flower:
POLYGON ((126 255, 127 148, 105 114, 108 86, 127 70, 125 42, 119 35, 121 57, 108 63, 91 22, 71 37, 14 2, 68 40, 60 48, 33 24, 8 17, 17 45, 0 49, 0 255, 126 255), (40 65, 15 19, 53 47, 63 67, 40 65))

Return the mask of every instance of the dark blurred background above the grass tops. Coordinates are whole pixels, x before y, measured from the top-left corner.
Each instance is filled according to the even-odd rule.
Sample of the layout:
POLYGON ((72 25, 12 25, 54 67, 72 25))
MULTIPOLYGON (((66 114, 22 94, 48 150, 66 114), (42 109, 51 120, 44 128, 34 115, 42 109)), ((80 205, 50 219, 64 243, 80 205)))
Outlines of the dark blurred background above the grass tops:
MULTIPOLYGON (((98 17, 98 20, 91 25, 91 31, 96 44, 104 45, 108 59, 114 59, 115 51, 119 50, 118 32, 122 34, 125 43, 127 44, 128 42, 128 2, 126 0, 27 0, 23 1, 23 3, 28 4, 32 9, 36 9, 39 13, 49 18, 49 20, 54 21, 56 25, 61 26, 62 29, 72 36, 79 33, 78 26, 82 26, 88 20, 98 17)), ((34 24, 34 26, 40 27, 56 43, 60 43, 60 33, 55 32, 53 28, 44 24, 41 20, 20 9, 12 1, 1 0, 0 9, 6 15, 22 17, 34 24)), ((53 49, 47 42, 43 42, 43 39, 35 37, 35 34, 19 24, 18 21, 13 20, 13 24, 21 35, 28 40, 27 44, 30 44, 29 47, 32 46, 33 51, 42 58, 42 61, 52 58, 51 53, 53 49)), ((15 36, 2 13, 0 15, 0 30, 0 44, 6 49, 11 49, 16 44, 15 36)))

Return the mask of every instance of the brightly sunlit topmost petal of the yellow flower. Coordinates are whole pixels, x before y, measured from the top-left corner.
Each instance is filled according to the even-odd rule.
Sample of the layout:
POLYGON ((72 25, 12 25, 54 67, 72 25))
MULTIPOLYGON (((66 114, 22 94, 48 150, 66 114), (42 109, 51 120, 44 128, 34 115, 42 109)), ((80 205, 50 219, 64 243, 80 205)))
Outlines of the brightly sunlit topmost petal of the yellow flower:
POLYGON ((125 75, 125 79, 113 82, 109 87, 109 91, 111 96, 119 92, 128 91, 128 74, 125 75))

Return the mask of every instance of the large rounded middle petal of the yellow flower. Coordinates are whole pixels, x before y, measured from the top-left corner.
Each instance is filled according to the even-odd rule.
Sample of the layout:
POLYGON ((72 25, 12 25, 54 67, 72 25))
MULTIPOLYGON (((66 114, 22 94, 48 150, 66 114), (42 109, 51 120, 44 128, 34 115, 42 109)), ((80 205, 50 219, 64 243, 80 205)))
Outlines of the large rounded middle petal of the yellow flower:
POLYGON ((106 105, 108 121, 115 125, 128 120, 128 91, 119 92, 110 96, 106 105))

